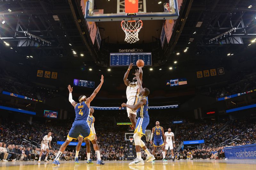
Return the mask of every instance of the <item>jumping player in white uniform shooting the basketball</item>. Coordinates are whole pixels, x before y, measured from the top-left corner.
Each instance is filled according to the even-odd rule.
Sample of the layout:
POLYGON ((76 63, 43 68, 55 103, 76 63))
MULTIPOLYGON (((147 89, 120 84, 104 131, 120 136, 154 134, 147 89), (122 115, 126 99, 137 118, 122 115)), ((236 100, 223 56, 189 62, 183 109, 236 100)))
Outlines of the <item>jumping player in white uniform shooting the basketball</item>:
MULTIPOLYGON (((127 88, 126 88, 126 97, 127 97, 126 104, 128 104, 128 105, 135 105, 138 103, 139 92, 140 92, 139 86, 137 83, 137 77, 136 76, 133 77, 132 82, 128 80, 128 75, 130 73, 130 70, 132 69, 132 66, 133 66, 133 63, 131 63, 129 65, 128 70, 124 74, 124 84, 127 86, 127 88)), ((143 74, 142 67, 139 67, 139 72, 140 72, 139 78, 140 78, 140 81, 142 84, 142 74, 143 74)), ((137 123, 137 119, 136 119, 137 110, 132 110, 132 109, 129 109, 128 107, 126 108, 126 110, 127 110, 128 117, 130 118, 130 121, 132 123, 132 126, 135 128, 136 123, 137 123)), ((146 132, 145 132, 147 142, 150 139, 150 132, 151 132, 150 130, 146 130, 146 132)))

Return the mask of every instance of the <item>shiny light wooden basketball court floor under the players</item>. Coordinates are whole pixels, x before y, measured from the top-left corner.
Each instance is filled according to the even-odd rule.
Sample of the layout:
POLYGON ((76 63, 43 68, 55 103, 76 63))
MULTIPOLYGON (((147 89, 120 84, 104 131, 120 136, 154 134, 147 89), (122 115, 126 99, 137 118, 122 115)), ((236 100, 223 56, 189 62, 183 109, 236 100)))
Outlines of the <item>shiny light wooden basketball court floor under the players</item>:
POLYGON ((105 165, 86 164, 85 161, 80 161, 75 164, 74 161, 60 161, 60 165, 53 166, 52 162, 46 163, 37 161, 27 162, 1 162, 0 170, 180 170, 180 169, 195 169, 195 170, 245 170, 255 169, 256 160, 177 160, 163 163, 157 160, 156 163, 146 163, 143 166, 128 166, 131 161, 105 161, 105 165))

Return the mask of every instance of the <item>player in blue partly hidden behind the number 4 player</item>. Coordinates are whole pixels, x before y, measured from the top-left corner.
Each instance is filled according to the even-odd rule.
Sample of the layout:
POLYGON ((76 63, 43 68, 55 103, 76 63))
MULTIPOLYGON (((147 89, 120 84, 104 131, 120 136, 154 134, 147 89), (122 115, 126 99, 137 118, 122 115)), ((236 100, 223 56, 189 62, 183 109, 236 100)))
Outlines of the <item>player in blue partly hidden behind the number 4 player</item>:
MULTIPOLYGON (((88 124, 92 129, 93 134, 95 135, 95 140, 97 140, 97 136, 96 136, 96 132, 94 129, 94 122, 95 122, 95 117, 92 116, 92 114, 94 113, 94 109, 91 107, 90 108, 90 115, 88 117, 88 124)), ((88 164, 93 164, 92 163, 92 159, 90 159, 90 155, 91 155, 91 145, 90 145, 90 140, 88 138, 84 138, 82 135, 79 135, 78 137, 78 144, 76 145, 76 157, 75 157, 75 162, 79 163, 78 161, 78 153, 80 151, 81 145, 83 140, 86 143, 86 152, 87 152, 87 163, 88 164)))

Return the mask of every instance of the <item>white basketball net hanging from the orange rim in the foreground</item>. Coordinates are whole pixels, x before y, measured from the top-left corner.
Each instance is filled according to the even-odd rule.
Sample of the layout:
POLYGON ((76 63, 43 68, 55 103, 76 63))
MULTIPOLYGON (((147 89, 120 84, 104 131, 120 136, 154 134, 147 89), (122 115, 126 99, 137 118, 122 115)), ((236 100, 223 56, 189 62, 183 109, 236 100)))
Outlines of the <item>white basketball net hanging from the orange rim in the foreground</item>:
POLYGON ((140 29, 142 28, 142 21, 122 21, 121 27, 125 32, 125 39, 124 41, 128 43, 135 43, 136 41, 139 41, 138 33, 140 32, 140 29))

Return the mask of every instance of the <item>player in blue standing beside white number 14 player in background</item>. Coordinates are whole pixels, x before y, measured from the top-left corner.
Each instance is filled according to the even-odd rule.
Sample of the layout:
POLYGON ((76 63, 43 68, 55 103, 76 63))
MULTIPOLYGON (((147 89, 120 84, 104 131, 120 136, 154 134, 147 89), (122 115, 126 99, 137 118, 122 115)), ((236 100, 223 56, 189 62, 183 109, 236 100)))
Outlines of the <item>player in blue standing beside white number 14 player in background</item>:
MULTIPOLYGON (((165 135, 164 135, 164 128, 160 126, 160 123, 158 121, 156 121, 156 126, 152 128, 152 133, 150 136, 150 143, 152 145, 152 138, 154 136, 154 148, 153 148, 153 152, 152 155, 155 155, 156 153, 156 148, 157 146, 161 146, 162 148, 162 153, 163 153, 163 162, 167 162, 167 160, 165 159, 165 150, 164 150, 164 144, 165 144, 165 135), (164 139, 164 141, 163 141, 164 139)), ((154 163, 155 161, 153 160, 152 163, 154 163)))

